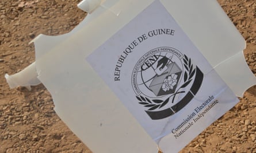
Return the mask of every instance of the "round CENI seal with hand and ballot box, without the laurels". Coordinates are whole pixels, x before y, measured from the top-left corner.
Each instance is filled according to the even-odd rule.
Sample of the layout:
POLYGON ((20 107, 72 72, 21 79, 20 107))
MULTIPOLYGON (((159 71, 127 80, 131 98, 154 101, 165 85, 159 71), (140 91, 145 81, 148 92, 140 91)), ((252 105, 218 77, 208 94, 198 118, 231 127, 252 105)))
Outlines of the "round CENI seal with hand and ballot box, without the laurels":
POLYGON ((132 72, 132 87, 136 95, 151 98, 175 92, 182 74, 183 55, 174 48, 150 50, 137 62, 132 72))

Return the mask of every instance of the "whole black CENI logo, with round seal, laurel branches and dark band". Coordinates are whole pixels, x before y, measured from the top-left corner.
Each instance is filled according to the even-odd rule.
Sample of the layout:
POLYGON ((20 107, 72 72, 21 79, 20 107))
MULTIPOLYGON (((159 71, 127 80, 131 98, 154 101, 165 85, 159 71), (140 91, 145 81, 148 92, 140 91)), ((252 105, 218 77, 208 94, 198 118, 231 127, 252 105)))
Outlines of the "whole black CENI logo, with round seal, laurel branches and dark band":
POLYGON ((159 47, 137 61, 132 88, 148 116, 159 120, 184 108, 200 89, 203 77, 191 58, 175 48, 159 47))

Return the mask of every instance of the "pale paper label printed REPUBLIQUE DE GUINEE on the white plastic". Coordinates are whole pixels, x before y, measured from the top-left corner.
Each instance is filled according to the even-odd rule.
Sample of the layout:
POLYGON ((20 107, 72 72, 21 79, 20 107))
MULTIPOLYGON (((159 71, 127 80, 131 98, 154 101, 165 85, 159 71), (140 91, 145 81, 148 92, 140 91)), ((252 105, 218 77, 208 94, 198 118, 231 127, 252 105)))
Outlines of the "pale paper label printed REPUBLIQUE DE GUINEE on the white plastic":
POLYGON ((159 1, 86 60, 158 143, 184 147, 238 102, 159 1))

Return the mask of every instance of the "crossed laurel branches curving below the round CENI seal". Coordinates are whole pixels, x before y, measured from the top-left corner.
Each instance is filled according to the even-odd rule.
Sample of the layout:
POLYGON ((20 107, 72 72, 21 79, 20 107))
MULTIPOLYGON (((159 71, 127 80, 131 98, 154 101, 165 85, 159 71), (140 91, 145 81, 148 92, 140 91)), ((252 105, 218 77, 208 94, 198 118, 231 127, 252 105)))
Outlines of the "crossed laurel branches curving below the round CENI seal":
POLYGON ((175 93, 171 94, 169 97, 167 97, 166 100, 160 100, 160 99, 148 99, 148 97, 143 97, 143 96, 136 96, 137 100, 139 100, 139 104, 144 105, 144 107, 148 108, 148 111, 153 111, 157 108, 162 108, 164 107, 167 103, 169 103, 169 100, 171 98, 171 103, 174 103, 175 96, 178 95, 179 93, 184 93, 185 91, 179 91, 182 88, 187 87, 190 82, 193 80, 194 73, 196 72, 196 69, 193 68, 193 64, 191 61, 191 58, 188 58, 184 54, 184 84, 179 87, 175 93))

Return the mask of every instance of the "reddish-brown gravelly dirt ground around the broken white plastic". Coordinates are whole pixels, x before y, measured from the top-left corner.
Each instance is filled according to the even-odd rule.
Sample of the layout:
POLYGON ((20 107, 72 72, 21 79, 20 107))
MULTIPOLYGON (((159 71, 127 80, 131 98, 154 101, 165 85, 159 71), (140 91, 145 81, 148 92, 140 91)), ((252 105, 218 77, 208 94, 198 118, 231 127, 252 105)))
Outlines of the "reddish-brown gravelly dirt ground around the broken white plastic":
MULTIPOLYGON (((79 1, 0 1, 0 152, 91 152, 56 115, 43 85, 9 89, 4 78, 35 61, 28 42, 38 34, 70 32, 85 18, 79 1)), ((244 56, 256 74, 255 0, 218 1, 246 40, 244 56)), ((256 152, 255 102, 256 86, 181 152, 256 152)))

